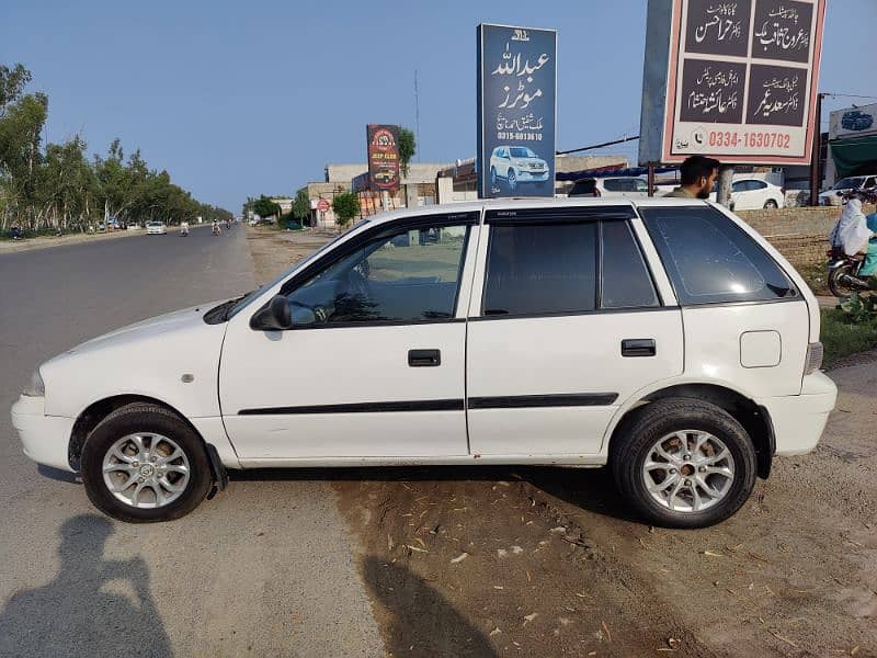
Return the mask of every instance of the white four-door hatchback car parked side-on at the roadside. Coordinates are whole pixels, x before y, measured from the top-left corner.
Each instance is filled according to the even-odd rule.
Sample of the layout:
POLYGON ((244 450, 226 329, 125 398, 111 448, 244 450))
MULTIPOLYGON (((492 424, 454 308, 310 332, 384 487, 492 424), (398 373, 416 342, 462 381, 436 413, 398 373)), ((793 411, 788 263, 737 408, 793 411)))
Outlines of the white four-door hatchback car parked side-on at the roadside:
POLYGON ((12 420, 127 521, 231 468, 551 464, 610 465, 643 519, 698 527, 817 445, 821 354, 805 281, 721 207, 481 202, 379 215, 241 298, 88 341, 12 420))

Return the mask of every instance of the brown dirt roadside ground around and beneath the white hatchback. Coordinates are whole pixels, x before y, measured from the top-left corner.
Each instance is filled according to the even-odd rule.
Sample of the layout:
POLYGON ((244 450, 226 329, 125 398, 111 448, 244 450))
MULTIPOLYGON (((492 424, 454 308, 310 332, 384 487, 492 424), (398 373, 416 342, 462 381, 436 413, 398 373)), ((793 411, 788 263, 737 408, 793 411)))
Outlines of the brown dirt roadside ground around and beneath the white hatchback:
MULTIPOLYGON (((258 275, 326 236, 249 229, 258 275)), ((324 472, 394 656, 877 656, 877 367, 836 368, 818 450, 701 531, 603 469, 324 472)))

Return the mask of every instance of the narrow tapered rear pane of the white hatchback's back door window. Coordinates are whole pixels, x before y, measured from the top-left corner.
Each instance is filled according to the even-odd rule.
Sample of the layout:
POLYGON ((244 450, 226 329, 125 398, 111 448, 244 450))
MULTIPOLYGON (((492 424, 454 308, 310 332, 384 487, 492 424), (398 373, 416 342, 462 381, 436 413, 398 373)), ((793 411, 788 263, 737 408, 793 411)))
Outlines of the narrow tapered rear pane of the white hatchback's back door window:
POLYGON ((658 306, 658 294, 627 222, 603 223, 601 307, 658 306))

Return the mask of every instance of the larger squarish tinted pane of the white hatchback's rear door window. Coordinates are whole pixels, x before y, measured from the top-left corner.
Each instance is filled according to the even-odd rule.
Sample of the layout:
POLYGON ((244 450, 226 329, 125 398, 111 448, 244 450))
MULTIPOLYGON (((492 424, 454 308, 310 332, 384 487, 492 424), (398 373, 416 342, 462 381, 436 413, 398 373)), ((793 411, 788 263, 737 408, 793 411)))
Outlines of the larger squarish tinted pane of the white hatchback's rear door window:
POLYGON ((593 310, 596 223, 491 226, 483 315, 593 310))

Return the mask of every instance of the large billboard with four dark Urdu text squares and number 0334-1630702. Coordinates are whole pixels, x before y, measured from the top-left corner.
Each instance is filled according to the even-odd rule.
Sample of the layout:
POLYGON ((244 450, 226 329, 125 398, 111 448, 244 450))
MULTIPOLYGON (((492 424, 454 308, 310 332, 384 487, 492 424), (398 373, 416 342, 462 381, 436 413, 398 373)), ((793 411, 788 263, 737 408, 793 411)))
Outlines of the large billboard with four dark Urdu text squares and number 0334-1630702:
POLYGON ((807 164, 825 0, 649 0, 639 161, 807 164))

